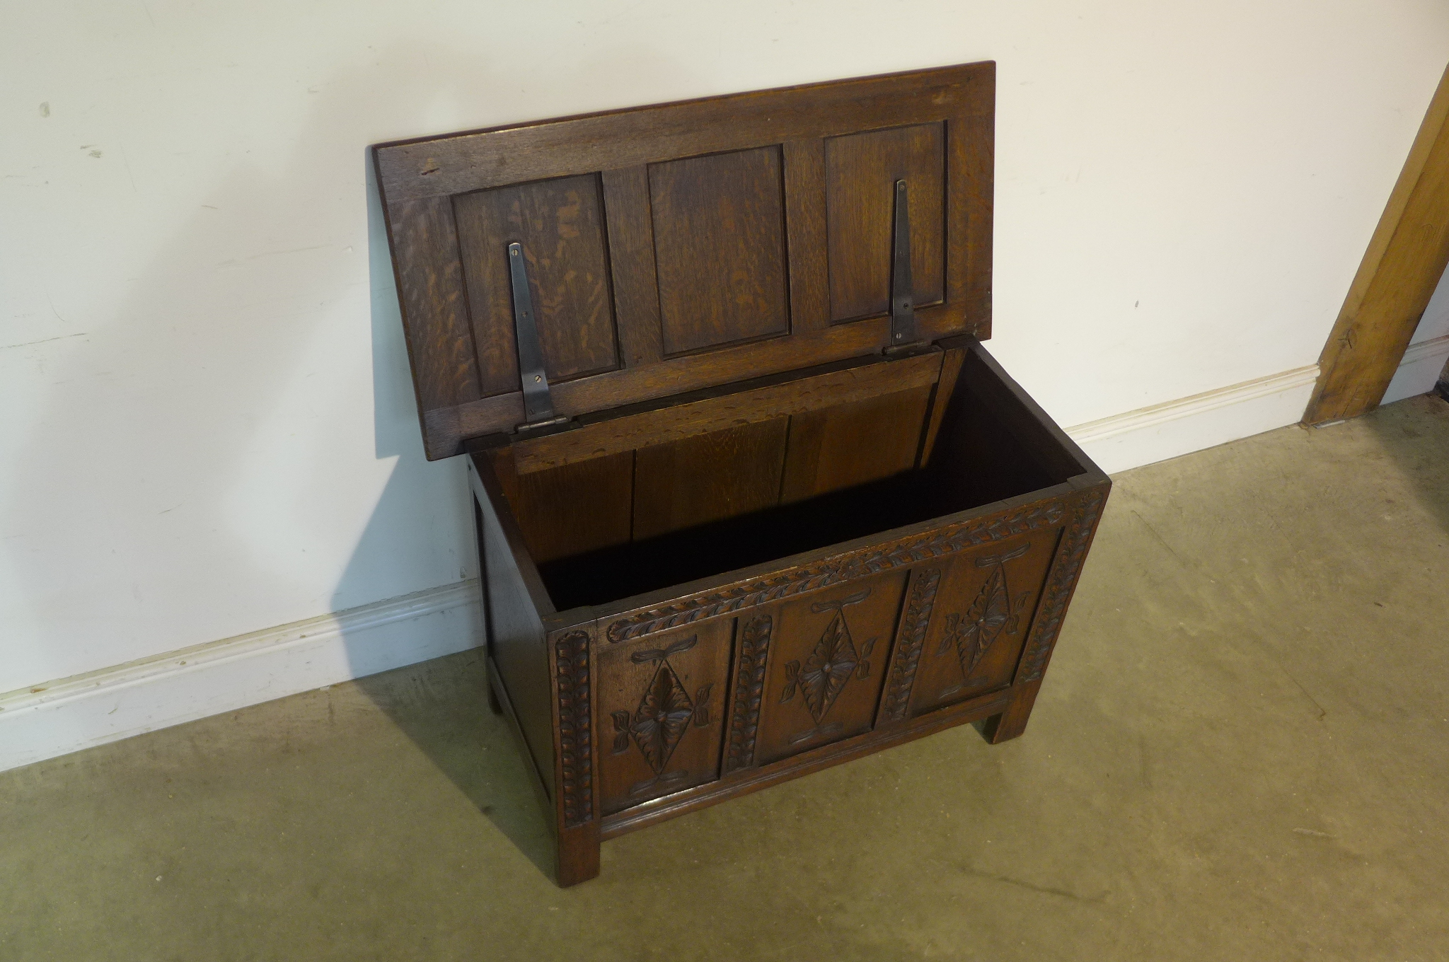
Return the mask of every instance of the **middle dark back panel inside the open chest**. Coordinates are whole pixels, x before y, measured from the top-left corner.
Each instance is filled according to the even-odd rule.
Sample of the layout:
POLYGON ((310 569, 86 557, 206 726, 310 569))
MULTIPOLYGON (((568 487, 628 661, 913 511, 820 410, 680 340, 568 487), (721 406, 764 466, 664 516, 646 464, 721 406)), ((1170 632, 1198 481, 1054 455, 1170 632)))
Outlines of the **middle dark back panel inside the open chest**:
POLYGON ((635 452, 635 540, 748 514, 780 501, 784 417, 635 452))

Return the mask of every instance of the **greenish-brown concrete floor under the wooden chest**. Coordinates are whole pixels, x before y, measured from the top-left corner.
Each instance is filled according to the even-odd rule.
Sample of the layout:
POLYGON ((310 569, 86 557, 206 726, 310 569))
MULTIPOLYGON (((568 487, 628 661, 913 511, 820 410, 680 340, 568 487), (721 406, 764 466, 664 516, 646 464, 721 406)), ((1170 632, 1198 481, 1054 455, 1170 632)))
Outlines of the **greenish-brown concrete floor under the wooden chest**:
POLYGON ((1446 959, 1449 406, 1123 474, 1024 737, 604 843, 458 655, 0 775, 0 959, 1446 959))

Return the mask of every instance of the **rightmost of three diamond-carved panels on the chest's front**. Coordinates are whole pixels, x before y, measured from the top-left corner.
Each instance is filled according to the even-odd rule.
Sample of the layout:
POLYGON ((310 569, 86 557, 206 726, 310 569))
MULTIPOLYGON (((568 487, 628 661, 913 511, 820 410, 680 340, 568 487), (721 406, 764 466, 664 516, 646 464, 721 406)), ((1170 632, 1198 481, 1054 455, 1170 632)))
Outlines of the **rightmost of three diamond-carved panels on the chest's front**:
POLYGON ((1049 527, 952 559, 920 652, 911 716, 1011 684, 1059 535, 1049 527))

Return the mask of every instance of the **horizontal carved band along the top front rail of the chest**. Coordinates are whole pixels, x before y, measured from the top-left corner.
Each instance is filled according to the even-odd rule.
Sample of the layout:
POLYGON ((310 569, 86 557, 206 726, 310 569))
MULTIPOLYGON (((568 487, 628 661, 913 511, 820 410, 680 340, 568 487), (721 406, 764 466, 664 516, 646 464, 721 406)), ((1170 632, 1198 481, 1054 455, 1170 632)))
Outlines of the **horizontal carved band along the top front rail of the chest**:
POLYGON ((926 535, 906 538, 891 545, 872 545, 845 555, 836 555, 814 565, 793 568, 768 578, 735 584, 716 591, 703 591, 658 608, 646 608, 617 619, 609 626, 610 642, 664 632, 701 619, 729 614, 742 608, 768 604, 819 588, 827 588, 851 578, 901 568, 920 561, 952 555, 975 545, 1011 538, 1048 527, 1062 520, 1061 501, 1045 501, 993 519, 962 522, 926 535))

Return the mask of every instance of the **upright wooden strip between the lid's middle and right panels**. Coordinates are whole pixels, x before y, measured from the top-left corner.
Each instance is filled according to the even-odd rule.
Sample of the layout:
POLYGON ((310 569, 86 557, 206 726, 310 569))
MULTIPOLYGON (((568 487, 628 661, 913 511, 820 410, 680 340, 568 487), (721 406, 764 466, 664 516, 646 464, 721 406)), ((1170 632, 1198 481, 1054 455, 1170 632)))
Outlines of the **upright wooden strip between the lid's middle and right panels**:
POLYGON ((788 141, 782 151, 790 249, 790 330, 820 330, 830 323, 830 264, 824 248, 824 141, 788 141))

